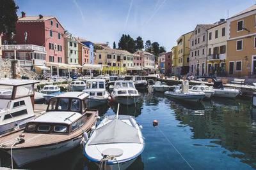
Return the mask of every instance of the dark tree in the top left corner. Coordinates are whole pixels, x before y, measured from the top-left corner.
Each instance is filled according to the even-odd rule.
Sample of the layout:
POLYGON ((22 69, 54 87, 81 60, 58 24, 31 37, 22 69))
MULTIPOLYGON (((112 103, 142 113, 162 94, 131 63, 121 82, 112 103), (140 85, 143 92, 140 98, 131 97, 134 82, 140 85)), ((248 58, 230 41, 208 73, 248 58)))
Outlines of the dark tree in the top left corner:
POLYGON ((1 0, 0 3, 0 34, 5 32, 10 36, 11 32, 16 32, 15 23, 18 20, 17 9, 13 0, 1 0))

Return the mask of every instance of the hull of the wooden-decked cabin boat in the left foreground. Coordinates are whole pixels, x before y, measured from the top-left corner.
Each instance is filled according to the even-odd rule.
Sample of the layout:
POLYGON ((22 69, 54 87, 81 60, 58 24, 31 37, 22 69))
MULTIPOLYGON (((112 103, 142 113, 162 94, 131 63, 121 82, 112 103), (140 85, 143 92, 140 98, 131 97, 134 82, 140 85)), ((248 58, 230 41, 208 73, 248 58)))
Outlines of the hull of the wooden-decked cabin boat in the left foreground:
MULTIPOLYGON (((17 164, 17 166, 23 166, 25 164, 35 162, 37 160, 47 159, 54 155, 58 155, 60 153, 66 152, 81 142, 83 136, 78 136, 77 138, 70 139, 68 141, 64 141, 61 143, 54 143, 53 145, 47 146, 36 146, 30 148, 13 148, 12 155, 13 160, 17 164), (24 152, 26 150, 26 152, 24 152)), ((10 149, 7 151, 10 155, 10 149)))

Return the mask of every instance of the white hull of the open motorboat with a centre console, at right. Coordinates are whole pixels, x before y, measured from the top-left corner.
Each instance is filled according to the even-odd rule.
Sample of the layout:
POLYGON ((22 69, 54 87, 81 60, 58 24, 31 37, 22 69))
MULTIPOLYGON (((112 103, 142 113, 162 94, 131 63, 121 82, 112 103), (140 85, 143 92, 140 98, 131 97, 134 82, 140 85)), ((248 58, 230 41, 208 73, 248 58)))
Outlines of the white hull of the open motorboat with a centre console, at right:
POLYGON ((201 103, 204 99, 204 94, 191 94, 191 95, 181 95, 175 94, 175 92, 164 93, 165 96, 172 97, 173 99, 178 99, 182 101, 191 101, 195 103, 201 103))

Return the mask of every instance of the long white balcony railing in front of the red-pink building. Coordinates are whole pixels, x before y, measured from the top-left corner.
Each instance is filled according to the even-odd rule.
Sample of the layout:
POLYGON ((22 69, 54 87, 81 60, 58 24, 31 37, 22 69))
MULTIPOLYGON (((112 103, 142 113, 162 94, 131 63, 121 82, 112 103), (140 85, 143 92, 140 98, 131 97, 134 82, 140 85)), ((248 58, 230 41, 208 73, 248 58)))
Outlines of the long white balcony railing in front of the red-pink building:
POLYGON ((24 50, 24 51, 39 51, 39 52, 45 52, 44 46, 38 46, 38 45, 2 45, 2 50, 24 50))

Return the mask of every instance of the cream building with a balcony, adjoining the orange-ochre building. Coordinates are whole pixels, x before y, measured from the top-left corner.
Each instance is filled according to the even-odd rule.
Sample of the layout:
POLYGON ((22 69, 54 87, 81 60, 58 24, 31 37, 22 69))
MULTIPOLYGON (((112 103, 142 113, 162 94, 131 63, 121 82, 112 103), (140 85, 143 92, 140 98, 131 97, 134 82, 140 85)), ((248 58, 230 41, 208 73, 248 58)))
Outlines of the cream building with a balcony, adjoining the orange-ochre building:
POLYGON ((221 20, 218 25, 207 30, 207 74, 217 73, 225 76, 227 60, 227 22, 221 20))

